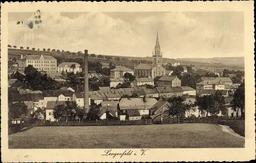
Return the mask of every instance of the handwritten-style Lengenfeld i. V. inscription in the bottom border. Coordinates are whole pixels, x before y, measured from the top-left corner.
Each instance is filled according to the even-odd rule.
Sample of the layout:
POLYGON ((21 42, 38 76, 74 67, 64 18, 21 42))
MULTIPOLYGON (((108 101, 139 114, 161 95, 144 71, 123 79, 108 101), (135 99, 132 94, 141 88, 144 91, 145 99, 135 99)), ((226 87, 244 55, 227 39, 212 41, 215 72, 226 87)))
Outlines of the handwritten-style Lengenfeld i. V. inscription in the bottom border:
POLYGON ((111 156, 113 158, 115 158, 116 156, 122 158, 122 156, 142 156, 146 154, 146 151, 148 151, 150 149, 141 149, 139 151, 136 150, 125 150, 123 152, 113 152, 112 149, 109 150, 105 150, 104 154, 101 154, 102 156, 111 156))

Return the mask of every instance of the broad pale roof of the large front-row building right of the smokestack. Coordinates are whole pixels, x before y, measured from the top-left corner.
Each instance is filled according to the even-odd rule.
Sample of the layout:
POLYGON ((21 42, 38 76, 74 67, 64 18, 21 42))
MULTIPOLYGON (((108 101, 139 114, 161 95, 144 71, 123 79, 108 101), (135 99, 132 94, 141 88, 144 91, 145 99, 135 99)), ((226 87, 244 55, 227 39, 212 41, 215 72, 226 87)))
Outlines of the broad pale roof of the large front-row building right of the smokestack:
POLYGON ((145 110, 151 108, 157 100, 155 98, 122 98, 119 102, 120 110, 145 110))

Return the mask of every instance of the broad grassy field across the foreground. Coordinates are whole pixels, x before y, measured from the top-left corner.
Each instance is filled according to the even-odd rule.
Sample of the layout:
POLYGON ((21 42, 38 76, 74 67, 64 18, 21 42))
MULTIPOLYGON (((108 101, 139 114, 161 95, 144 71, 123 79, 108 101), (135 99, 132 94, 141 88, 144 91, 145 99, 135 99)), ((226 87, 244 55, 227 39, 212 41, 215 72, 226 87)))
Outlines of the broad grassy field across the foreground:
POLYGON ((9 148, 242 148, 213 124, 34 127, 9 135, 9 148))

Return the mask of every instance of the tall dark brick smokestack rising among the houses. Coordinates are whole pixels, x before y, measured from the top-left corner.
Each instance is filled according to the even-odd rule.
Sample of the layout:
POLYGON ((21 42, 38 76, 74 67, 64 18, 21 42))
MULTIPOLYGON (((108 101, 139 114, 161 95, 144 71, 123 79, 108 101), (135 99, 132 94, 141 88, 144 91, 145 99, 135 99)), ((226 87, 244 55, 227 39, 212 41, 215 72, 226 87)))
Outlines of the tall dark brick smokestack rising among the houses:
POLYGON ((89 83, 88 83, 88 50, 84 50, 84 96, 83 107, 86 113, 89 111, 89 83))

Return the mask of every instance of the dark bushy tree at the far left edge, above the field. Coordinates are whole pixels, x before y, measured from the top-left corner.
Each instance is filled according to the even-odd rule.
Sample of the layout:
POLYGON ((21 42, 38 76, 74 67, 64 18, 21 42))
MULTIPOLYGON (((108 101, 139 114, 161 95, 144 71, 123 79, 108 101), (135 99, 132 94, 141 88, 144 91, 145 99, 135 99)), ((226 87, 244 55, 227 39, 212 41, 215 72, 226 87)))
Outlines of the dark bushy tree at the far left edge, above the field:
POLYGON ((11 104, 8 111, 9 119, 20 118, 23 114, 28 113, 28 106, 24 102, 11 104))

